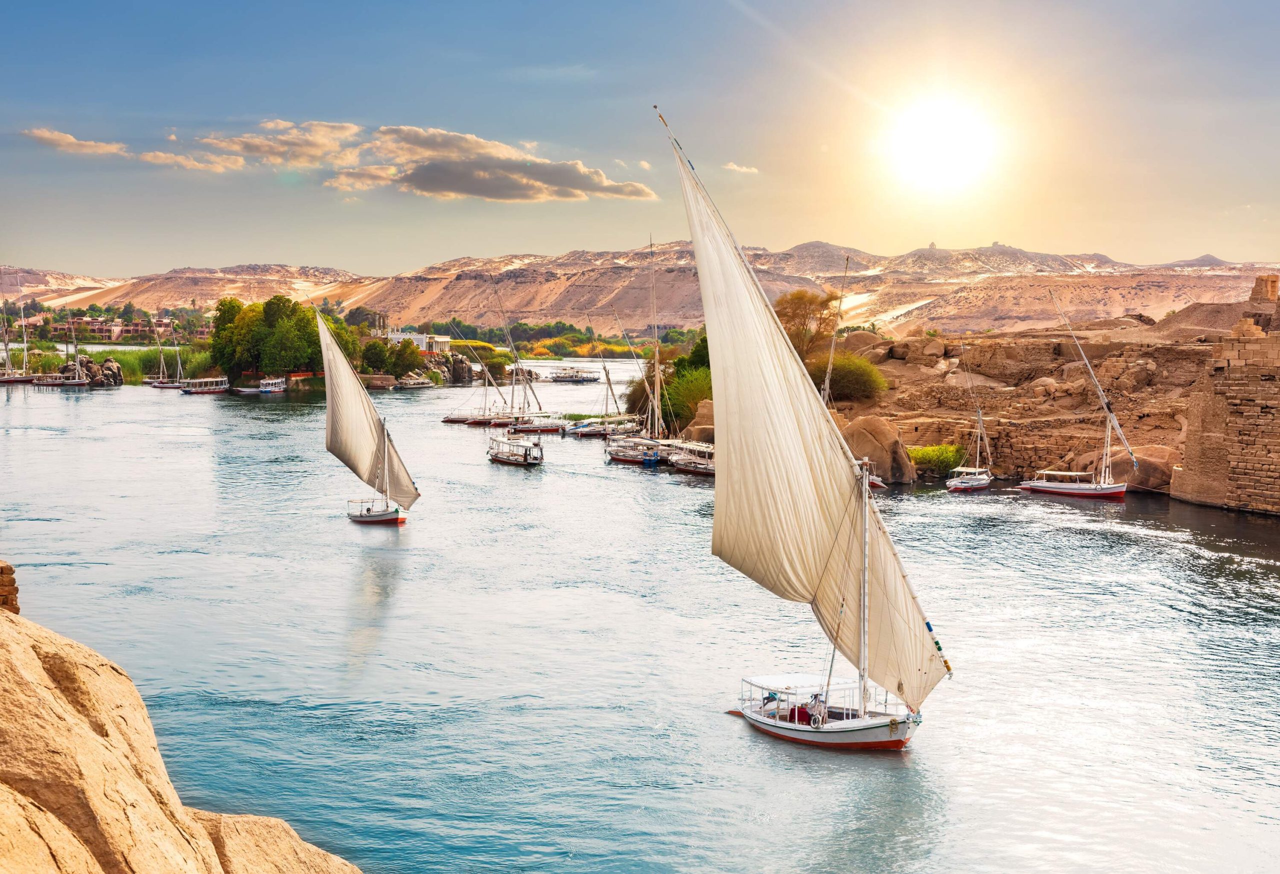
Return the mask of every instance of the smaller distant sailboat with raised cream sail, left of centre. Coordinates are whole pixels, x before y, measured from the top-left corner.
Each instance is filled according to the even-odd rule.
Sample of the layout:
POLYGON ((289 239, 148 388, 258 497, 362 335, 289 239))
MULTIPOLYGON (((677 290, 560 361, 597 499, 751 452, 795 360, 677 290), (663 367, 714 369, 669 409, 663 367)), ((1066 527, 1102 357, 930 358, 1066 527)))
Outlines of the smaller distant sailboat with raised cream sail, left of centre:
POLYGON ((392 443, 387 420, 378 415, 319 310, 316 324, 325 374, 325 448, 379 494, 348 500, 347 518, 361 525, 404 525, 406 511, 420 497, 413 477, 392 443))

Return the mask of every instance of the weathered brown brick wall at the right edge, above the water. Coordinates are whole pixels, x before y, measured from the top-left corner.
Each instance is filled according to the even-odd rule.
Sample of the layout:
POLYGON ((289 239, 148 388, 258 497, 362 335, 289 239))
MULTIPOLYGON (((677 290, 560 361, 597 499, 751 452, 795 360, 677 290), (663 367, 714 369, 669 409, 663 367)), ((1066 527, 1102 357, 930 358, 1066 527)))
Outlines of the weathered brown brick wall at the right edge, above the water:
POLYGON ((1170 494, 1280 513, 1280 333, 1213 347, 1188 409, 1187 453, 1170 494))

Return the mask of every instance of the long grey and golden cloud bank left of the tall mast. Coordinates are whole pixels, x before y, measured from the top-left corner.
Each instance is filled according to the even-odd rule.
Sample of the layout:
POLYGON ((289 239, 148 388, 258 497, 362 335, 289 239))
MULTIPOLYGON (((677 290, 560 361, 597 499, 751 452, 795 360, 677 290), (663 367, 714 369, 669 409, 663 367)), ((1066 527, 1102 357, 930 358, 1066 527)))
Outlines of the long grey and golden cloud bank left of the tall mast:
MULTIPOLYGON (((643 183, 616 182, 604 170, 582 161, 539 157, 534 154, 538 143, 532 141, 511 146, 440 128, 385 125, 366 133, 364 127, 346 122, 266 119, 257 131, 201 136, 200 151, 140 155, 131 154, 124 143, 77 139, 49 128, 23 133, 63 152, 115 155, 184 170, 228 173, 253 166, 312 170, 326 174, 325 186, 344 192, 394 186, 438 200, 476 197, 503 202, 657 197, 643 183)), ((175 137, 170 134, 168 139, 175 137)), ((641 166, 648 169, 644 163, 641 166)))

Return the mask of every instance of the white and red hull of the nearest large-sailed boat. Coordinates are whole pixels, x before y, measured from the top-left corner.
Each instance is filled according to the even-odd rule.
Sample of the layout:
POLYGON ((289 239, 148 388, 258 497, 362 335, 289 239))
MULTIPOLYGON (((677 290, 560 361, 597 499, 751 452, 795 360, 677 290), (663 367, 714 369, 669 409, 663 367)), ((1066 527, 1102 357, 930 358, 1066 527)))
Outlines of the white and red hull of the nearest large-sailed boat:
POLYGON ((868 706, 859 708, 856 679, 791 673, 745 677, 739 709, 764 735, 828 750, 901 750, 922 722, 874 683, 868 683, 868 706))

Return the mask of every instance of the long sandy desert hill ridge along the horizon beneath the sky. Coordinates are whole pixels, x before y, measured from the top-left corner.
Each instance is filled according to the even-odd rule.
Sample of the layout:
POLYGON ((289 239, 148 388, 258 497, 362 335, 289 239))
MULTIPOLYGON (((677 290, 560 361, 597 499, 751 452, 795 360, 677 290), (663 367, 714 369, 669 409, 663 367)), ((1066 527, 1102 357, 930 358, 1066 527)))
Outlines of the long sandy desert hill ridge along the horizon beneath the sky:
MULTIPOLYGON (((1133 265, 1102 253, 1052 255, 992 243, 947 250, 936 246, 896 256, 873 255, 824 242, 781 252, 744 247, 769 297, 795 289, 845 290, 845 321, 906 331, 1042 328, 1057 322, 1052 288, 1073 320, 1143 314, 1161 319, 1192 303, 1230 303, 1248 297, 1253 276, 1275 264, 1231 264, 1212 255, 1165 265, 1133 265), (846 258, 849 276, 845 274, 846 258)), ((211 307, 220 297, 246 302, 288 294, 300 301, 342 301, 387 314, 393 324, 457 316, 498 324, 575 324, 588 320, 612 330, 649 325, 650 283, 658 321, 689 328, 703 322, 692 247, 675 241, 627 251, 575 250, 562 255, 460 257, 394 276, 360 276, 330 267, 246 264, 180 267, 133 279, 101 279, 56 271, 0 267, 6 297, 47 306, 133 301, 155 310, 211 307), (500 303, 499 303, 500 301, 500 303)))

